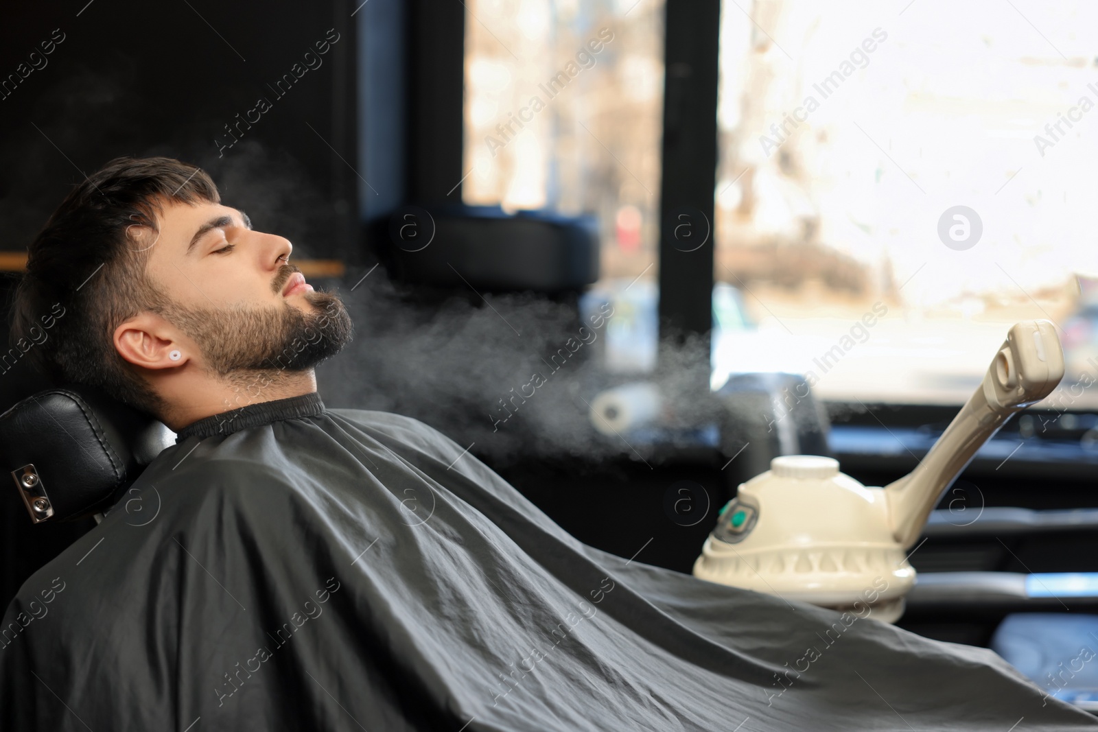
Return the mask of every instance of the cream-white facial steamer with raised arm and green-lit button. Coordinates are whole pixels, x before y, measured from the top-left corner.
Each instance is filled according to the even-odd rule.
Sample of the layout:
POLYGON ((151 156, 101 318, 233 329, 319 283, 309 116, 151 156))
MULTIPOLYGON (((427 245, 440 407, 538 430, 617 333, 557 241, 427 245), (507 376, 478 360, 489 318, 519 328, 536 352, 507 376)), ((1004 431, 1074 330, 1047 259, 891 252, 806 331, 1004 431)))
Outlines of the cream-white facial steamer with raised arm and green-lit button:
POLYGON ((895 622, 915 585, 906 553, 942 493, 1010 415, 1047 396, 1063 376, 1055 326, 1018 323, 914 471, 867 487, 831 458, 774 458, 721 510, 694 575, 840 610, 867 606, 871 617, 895 622))

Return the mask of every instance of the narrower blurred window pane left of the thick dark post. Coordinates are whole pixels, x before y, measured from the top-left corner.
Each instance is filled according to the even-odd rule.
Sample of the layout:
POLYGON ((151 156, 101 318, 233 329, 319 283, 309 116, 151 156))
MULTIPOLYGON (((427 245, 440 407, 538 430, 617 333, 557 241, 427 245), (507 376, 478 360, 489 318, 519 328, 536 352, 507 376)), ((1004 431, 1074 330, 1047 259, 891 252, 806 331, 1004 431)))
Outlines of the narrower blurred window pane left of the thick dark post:
POLYGON ((594 290, 630 305, 615 318, 621 349, 608 365, 649 369, 662 2, 469 0, 467 8, 464 203, 597 216, 602 281, 594 290))

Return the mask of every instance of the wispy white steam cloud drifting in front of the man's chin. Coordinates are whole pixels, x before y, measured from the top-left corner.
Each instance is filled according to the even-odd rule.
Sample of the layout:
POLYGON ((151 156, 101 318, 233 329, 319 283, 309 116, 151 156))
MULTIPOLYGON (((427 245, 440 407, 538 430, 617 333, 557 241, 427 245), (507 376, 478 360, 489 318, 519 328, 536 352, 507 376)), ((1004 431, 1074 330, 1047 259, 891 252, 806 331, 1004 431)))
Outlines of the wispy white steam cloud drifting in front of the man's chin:
POLYGON ((558 349, 569 352, 568 339, 578 341, 580 326, 591 327, 590 320, 576 319, 569 304, 527 293, 485 295, 492 307, 458 295, 435 306, 413 306, 380 268, 341 295, 355 322, 355 339, 317 369, 325 404, 415 417, 462 446, 475 442, 474 452, 500 464, 531 457, 650 457, 651 444, 624 435, 627 444, 591 425, 587 404, 620 383, 659 384, 670 405, 663 427, 696 427, 719 417, 708 395, 708 344, 697 338, 665 346, 653 373, 606 374, 598 354, 612 316, 596 330, 597 338, 563 365, 558 358, 553 371, 547 364, 551 356, 558 349), (513 416, 494 424, 507 416, 500 399, 509 406, 535 372, 546 383, 525 403, 515 398, 513 416))

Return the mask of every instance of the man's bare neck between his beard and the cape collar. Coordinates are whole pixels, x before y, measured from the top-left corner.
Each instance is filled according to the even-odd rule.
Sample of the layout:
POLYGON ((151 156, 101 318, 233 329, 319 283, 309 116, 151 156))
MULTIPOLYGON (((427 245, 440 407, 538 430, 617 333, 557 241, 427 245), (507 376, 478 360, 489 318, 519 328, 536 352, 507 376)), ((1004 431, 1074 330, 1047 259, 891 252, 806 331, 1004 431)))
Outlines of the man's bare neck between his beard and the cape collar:
POLYGON ((193 384, 173 384, 176 393, 164 394, 169 403, 160 419, 172 431, 199 419, 233 412, 251 404, 301 396, 316 391, 316 374, 306 371, 237 372, 229 379, 193 384))

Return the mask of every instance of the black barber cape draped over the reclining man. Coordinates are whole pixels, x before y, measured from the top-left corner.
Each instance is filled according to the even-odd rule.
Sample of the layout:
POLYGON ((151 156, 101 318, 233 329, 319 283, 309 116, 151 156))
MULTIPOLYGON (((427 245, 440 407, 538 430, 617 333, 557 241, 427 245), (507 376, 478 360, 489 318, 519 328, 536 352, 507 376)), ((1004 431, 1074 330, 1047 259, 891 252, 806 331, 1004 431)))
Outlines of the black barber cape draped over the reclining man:
POLYGON ((316 393, 184 428, 134 487, 8 608, 5 732, 1095 727, 989 650, 587 547, 316 393))

